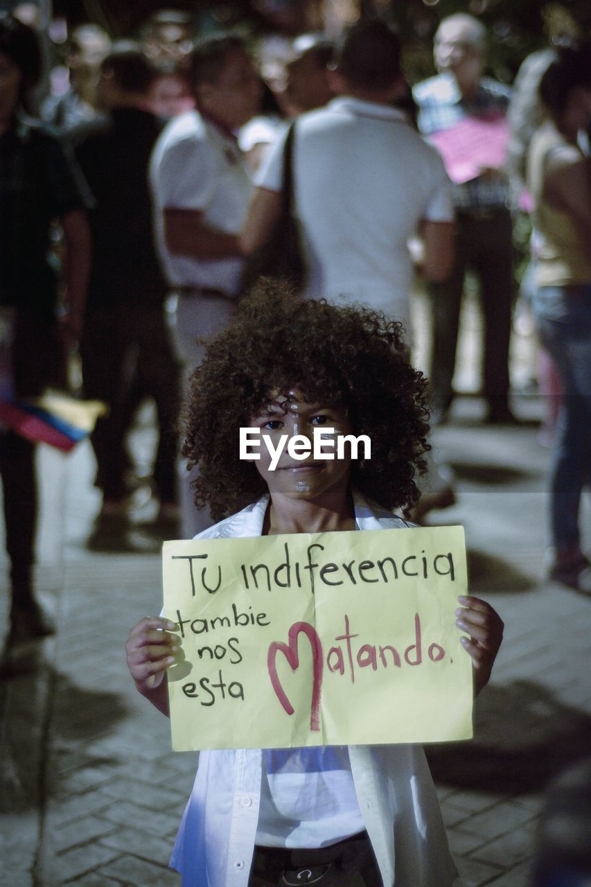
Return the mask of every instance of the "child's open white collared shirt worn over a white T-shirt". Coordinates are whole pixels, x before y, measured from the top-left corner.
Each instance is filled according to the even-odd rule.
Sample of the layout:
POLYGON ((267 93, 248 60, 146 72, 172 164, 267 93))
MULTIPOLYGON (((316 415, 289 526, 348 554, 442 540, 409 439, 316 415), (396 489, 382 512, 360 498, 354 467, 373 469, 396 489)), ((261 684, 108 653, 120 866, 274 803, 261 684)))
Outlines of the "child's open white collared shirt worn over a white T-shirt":
MULTIPOLYGON (((269 497, 196 538, 256 537, 269 497)), ((354 495, 359 530, 409 525, 354 495)), ((456 876, 421 746, 349 746, 359 810, 384 887, 451 887, 456 876)), ((247 887, 256 842, 263 751, 201 751, 170 866, 183 887, 247 887)))

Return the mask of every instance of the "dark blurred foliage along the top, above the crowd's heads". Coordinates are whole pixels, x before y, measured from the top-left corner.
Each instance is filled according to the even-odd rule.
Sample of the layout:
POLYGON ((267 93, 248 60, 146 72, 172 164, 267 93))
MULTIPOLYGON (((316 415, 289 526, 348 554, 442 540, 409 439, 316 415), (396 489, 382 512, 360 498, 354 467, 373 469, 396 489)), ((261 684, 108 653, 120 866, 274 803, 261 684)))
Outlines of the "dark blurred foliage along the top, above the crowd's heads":
POLYGON ((410 82, 433 74, 432 40, 437 25, 453 12, 477 16, 489 32, 487 73, 512 82, 530 52, 560 42, 563 35, 591 28, 589 0, 53 0, 54 11, 71 24, 97 21, 113 35, 133 35, 155 10, 191 12, 198 33, 240 26, 251 33, 295 35, 324 24, 335 30, 359 15, 380 15, 398 28, 406 45, 410 82))

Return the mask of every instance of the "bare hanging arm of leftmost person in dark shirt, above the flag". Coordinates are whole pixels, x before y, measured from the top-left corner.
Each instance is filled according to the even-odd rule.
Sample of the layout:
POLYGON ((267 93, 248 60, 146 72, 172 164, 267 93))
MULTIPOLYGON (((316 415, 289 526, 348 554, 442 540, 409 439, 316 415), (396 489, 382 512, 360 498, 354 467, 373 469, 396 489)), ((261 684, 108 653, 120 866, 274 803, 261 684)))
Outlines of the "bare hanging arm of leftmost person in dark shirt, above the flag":
POLYGON ((72 209, 60 219, 66 247, 66 316, 68 334, 79 339, 91 272, 91 229, 82 209, 72 209))

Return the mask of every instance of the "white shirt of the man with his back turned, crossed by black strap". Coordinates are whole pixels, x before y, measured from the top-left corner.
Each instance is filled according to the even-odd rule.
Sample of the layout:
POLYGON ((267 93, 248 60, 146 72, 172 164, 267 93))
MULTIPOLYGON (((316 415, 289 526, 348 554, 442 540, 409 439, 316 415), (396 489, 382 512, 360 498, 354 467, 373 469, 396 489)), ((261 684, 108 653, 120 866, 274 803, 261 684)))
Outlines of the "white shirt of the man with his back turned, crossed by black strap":
MULTIPOLYGON (((281 190, 284 142, 256 175, 270 191, 281 190)), ((297 119, 293 165, 306 295, 364 302, 407 326, 408 239, 423 219, 453 221, 436 148, 398 109, 345 96, 297 119)))

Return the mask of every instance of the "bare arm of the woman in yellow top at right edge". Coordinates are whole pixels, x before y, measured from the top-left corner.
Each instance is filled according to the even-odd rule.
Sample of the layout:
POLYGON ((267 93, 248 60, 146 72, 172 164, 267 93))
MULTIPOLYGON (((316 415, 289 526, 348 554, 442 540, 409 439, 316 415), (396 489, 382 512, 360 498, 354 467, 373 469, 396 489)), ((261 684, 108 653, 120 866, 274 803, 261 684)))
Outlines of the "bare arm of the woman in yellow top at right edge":
POLYGON ((544 194, 548 202, 571 216, 581 243, 591 242, 591 161, 574 146, 550 154, 544 194))

